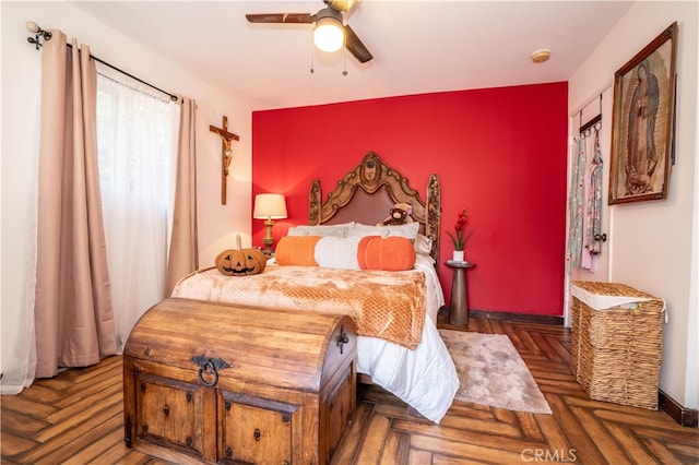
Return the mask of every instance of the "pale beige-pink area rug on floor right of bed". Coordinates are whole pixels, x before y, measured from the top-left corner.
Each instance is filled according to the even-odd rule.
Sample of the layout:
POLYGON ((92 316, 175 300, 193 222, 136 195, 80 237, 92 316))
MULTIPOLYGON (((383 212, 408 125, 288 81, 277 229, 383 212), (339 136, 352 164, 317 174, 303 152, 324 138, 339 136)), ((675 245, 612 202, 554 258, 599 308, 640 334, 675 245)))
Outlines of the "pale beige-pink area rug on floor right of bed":
POLYGON ((508 336, 450 330, 439 333, 461 381, 457 401, 533 414, 552 413, 508 336))

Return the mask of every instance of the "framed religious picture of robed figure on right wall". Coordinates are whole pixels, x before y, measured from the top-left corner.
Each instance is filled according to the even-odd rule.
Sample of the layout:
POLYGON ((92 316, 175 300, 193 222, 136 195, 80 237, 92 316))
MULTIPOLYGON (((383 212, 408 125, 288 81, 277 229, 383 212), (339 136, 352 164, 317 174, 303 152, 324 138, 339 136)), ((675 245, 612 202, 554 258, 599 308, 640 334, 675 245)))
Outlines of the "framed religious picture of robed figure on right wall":
POLYGON ((614 75, 609 205, 667 196, 676 55, 675 22, 614 75))

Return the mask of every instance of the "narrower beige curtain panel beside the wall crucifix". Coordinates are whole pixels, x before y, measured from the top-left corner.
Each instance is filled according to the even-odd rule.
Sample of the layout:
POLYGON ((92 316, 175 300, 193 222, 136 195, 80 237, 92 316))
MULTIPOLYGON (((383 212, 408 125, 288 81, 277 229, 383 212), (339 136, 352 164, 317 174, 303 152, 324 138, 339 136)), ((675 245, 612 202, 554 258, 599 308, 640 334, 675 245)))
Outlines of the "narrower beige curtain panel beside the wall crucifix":
POLYGON ((197 150, 194 123, 197 103, 182 98, 173 233, 167 261, 165 296, 169 297, 177 282, 199 267, 199 239, 197 234, 197 150))

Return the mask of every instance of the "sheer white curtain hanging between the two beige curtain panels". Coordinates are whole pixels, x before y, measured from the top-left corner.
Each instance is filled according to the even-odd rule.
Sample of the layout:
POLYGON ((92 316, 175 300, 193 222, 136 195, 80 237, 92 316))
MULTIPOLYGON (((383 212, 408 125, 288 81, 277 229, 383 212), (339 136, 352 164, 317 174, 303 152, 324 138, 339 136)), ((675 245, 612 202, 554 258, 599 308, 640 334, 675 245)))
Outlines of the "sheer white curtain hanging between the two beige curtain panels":
POLYGON ((164 297, 178 120, 179 105, 99 70, 99 182, 119 353, 164 297))

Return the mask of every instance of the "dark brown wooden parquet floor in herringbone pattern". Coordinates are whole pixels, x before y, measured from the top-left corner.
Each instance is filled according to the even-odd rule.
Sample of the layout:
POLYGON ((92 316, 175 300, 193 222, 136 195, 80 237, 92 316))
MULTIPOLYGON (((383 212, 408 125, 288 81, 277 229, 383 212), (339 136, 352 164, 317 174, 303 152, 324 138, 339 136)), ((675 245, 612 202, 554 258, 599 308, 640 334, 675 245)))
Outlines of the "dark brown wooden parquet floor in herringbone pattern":
MULTIPOLYGON (((435 425, 381 389, 363 386, 333 462, 699 464, 698 429, 664 412, 589 400, 570 372, 568 330, 472 319, 467 331, 507 334, 553 415, 455 402, 435 425)), ((123 443, 121 366, 120 356, 109 357, 2 396, 2 464, 164 463, 123 443)))

